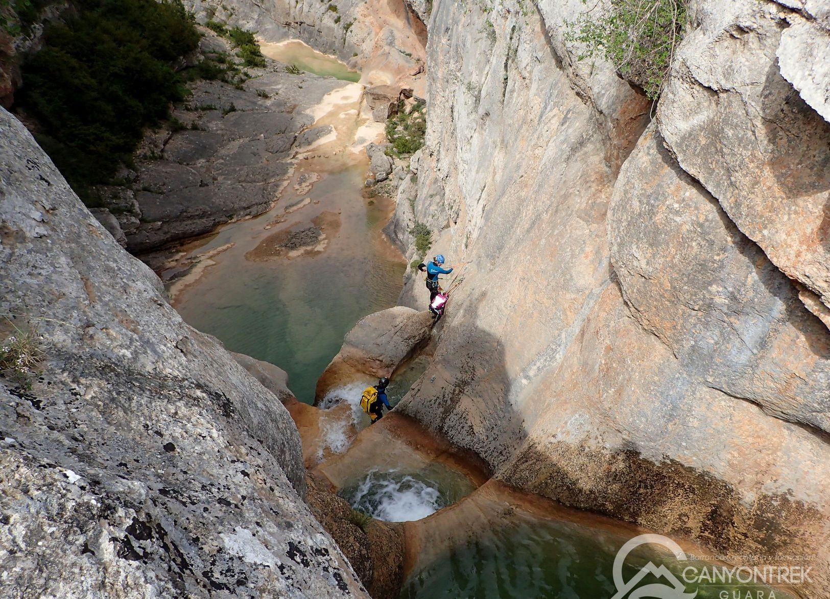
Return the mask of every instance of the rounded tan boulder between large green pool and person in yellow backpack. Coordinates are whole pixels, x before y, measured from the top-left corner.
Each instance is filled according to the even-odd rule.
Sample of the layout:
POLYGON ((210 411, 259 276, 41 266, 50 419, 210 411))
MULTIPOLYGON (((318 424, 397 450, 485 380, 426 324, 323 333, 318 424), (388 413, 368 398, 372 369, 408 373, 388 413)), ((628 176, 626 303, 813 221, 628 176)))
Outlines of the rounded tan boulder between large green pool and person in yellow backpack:
POLYGON ((388 377, 432 333, 432 314, 395 306, 369 314, 349 331, 343 347, 317 382, 315 404, 334 387, 369 377, 388 377))

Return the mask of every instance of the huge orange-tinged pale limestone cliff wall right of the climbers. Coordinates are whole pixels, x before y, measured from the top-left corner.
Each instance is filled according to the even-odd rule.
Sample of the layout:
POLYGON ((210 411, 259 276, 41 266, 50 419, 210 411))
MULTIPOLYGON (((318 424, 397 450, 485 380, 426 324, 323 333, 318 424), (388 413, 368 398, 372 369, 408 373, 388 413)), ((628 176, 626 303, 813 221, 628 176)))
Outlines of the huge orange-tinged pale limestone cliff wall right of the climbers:
MULTIPOLYGON (((827 14, 727 4, 691 2, 655 119, 577 61, 579 0, 432 4, 427 144, 391 230, 425 222, 472 264, 398 409, 566 504, 814 554, 826 597, 828 79, 796 56, 827 56, 827 14)), ((425 307, 421 277, 403 300, 425 307)))

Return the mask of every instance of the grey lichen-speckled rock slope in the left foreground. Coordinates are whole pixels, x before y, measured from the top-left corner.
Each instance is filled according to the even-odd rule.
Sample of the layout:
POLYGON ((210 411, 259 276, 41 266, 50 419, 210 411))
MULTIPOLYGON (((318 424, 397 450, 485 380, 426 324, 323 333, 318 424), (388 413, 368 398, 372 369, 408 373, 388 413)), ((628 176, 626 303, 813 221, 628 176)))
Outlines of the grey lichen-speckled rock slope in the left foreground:
POLYGON ((0 165, 0 332, 46 353, 31 388, 0 377, 2 596, 366 597, 281 402, 2 109, 0 165))

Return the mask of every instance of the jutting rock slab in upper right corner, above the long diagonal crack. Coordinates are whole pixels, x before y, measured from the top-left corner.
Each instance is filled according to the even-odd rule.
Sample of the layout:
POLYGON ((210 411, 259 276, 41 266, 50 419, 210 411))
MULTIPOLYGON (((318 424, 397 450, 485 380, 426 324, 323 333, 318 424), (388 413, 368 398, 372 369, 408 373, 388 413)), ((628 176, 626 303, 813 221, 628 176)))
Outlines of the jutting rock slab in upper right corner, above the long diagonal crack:
MULTIPOLYGON (((788 18, 789 11, 773 2, 732 2, 723 10, 701 11, 701 27, 678 50, 676 73, 657 116, 681 168, 717 198, 779 270, 830 304, 830 226, 824 213, 830 201, 830 123, 793 89, 776 60, 782 44, 786 54, 801 43, 816 47, 818 39, 799 19, 788 30, 788 18)), ((801 65, 813 73, 805 71, 804 77, 823 68, 801 65)), ((816 103, 812 84, 803 84, 804 95, 816 103)))

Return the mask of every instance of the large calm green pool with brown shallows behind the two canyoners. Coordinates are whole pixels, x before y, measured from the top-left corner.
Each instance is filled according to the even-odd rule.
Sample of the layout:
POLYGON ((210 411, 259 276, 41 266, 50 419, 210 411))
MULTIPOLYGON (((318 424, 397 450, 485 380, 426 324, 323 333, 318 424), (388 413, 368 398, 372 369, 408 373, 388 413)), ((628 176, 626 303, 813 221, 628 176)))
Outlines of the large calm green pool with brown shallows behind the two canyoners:
POLYGON ((359 163, 324 173, 320 165, 303 161, 292 183, 302 173, 320 173, 308 194, 319 203, 286 214, 284 207, 300 197, 290 185, 271 212, 183 247, 186 260, 234 244, 178 291, 173 304, 183 319, 234 352, 285 369, 300 402, 313 402, 317 377, 349 329, 365 315, 395 305, 403 285, 403 259, 380 232, 389 207, 380 198, 362 197, 364 170, 359 163), (246 256, 276 231, 312 226, 321 212, 339 213, 340 221, 336 235, 327 233, 325 251, 270 261, 246 256), (277 217, 287 220, 266 230, 277 217))

